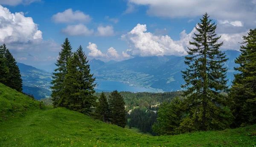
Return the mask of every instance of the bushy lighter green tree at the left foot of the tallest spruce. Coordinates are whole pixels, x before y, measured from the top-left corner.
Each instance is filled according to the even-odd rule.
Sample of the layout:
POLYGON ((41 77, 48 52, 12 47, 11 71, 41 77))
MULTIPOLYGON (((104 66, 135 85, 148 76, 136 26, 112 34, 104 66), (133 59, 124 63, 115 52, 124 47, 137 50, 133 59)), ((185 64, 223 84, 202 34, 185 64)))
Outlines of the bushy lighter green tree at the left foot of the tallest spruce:
POLYGON ((158 135, 174 135, 178 134, 177 128, 183 118, 183 110, 181 109, 181 100, 176 97, 172 102, 164 102, 157 111, 157 122, 154 123, 152 129, 158 135))

